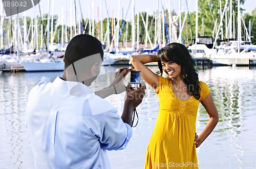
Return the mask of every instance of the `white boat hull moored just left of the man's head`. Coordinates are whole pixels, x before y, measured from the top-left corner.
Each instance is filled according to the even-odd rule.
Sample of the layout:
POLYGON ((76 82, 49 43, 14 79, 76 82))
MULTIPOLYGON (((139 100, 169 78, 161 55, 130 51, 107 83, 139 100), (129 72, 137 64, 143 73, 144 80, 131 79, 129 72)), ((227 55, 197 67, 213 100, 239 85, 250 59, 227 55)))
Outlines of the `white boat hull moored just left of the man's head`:
POLYGON ((27 60, 23 61, 22 64, 27 72, 63 71, 65 65, 63 59, 41 59, 39 61, 27 60))

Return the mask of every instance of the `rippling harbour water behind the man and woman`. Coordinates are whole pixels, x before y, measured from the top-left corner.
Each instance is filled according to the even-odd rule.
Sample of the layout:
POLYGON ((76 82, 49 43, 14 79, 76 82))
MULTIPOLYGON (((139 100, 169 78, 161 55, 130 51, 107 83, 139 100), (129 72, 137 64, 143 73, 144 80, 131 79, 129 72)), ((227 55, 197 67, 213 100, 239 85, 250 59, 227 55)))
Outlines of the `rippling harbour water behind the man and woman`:
MULTIPOLYGON (((104 67, 115 72, 120 67, 104 67)), ((157 71, 157 67, 150 67, 157 71)), ((62 72, 0 74, 0 168, 34 168, 33 154, 25 127, 27 96, 39 81, 53 81, 62 72)), ((98 90, 113 76, 101 76, 93 83, 98 90)), ((219 111, 215 130, 197 148, 200 168, 256 168, 256 68, 214 67, 199 70, 219 111)), ((127 82, 127 80, 126 80, 127 82)), ((122 110, 124 93, 108 99, 122 110)), ((109 152, 112 168, 143 168, 147 143, 158 114, 159 102, 147 86, 142 104, 137 108, 139 123, 127 148, 109 152)), ((200 104, 197 133, 203 130, 208 115, 200 104)))

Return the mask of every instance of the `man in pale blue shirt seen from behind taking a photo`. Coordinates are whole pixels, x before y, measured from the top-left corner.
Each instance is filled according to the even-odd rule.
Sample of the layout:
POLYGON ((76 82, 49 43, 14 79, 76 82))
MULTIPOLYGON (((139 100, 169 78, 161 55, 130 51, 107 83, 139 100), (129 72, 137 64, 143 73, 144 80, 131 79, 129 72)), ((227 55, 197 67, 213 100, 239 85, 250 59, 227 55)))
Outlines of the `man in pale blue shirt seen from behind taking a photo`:
MULTIPOLYGON (((35 168, 110 168, 106 150, 126 147, 132 136, 132 113, 144 97, 145 85, 135 90, 127 86, 118 116, 102 98, 122 92, 117 87, 120 76, 96 93, 102 98, 88 88, 100 73, 102 59, 101 43, 90 35, 78 35, 66 49, 62 77, 39 82, 31 90, 26 125, 35 168)), ((119 75, 130 71, 120 69, 119 75)))

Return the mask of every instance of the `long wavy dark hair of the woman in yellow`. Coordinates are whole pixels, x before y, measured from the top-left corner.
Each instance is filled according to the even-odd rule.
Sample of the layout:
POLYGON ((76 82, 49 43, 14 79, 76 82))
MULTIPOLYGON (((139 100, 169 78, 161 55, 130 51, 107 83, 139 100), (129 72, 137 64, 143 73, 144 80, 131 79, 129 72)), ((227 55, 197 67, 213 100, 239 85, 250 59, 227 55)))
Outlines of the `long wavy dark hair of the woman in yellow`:
POLYGON ((162 76, 163 67, 161 61, 175 62, 181 66, 181 79, 185 82, 187 93, 197 100, 200 99, 198 71, 195 69, 195 61, 187 48, 180 43, 170 43, 157 52, 159 74, 162 76))

